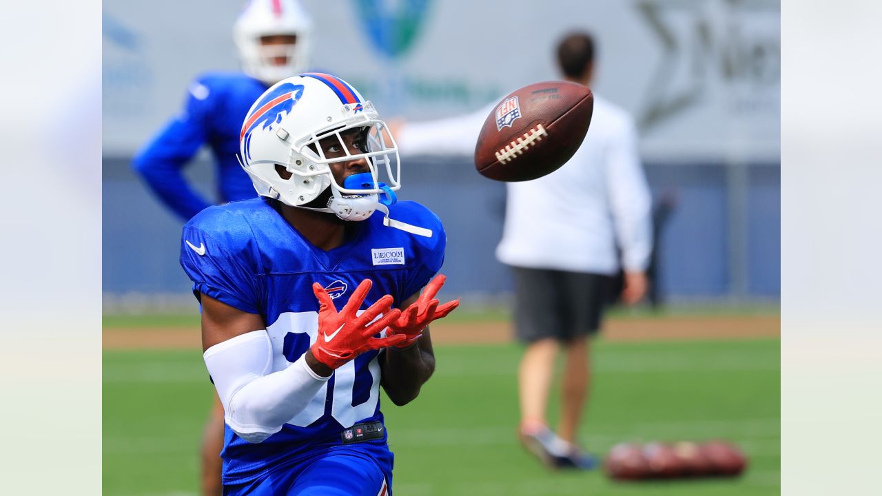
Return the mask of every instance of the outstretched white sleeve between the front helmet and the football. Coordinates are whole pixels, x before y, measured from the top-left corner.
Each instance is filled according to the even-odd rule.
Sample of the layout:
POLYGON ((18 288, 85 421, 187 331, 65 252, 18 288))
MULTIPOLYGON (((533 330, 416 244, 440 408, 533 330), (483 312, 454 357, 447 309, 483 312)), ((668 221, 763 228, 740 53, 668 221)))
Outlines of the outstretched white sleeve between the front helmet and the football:
POLYGON ((435 121, 408 122, 394 137, 401 154, 470 155, 475 153, 478 134, 496 103, 471 114, 435 121))

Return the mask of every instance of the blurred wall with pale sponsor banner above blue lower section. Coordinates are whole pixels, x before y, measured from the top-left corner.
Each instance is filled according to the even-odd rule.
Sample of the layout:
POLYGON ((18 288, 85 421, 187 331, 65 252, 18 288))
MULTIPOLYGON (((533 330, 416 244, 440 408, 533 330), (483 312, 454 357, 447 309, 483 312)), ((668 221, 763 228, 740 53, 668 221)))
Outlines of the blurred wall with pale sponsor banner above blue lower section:
MULTIPOLYGON (((638 119, 657 204, 669 303, 777 302, 780 283, 780 7, 762 0, 303 0, 315 21, 313 66, 359 87, 388 119, 477 109, 555 79, 553 49, 571 29, 599 43, 594 91, 638 119)), ((103 290, 107 310, 192 304, 177 263, 180 222, 129 167, 179 109, 201 71, 235 70, 239 1, 108 0, 103 22, 103 290)), ((590 137, 590 131, 589 131, 590 137)), ((207 156, 188 169, 212 195, 207 156)), ((408 157, 401 197, 445 221, 445 290, 505 298, 494 258, 505 187, 467 157, 408 157)))

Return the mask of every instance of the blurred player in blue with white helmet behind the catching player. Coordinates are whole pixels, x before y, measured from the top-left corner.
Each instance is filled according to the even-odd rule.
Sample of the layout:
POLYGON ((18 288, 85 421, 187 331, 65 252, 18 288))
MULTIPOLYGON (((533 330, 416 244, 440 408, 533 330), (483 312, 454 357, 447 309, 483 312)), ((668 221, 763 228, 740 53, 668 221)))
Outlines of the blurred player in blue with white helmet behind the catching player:
MULTIPOLYGON (((214 158, 217 199, 256 196, 239 167, 239 130, 251 104, 280 79, 306 70, 312 21, 297 0, 252 0, 233 26, 242 72, 206 72, 193 80, 183 109, 135 155, 133 168, 150 190, 183 221, 213 201, 188 183, 183 169, 202 147, 214 158)), ((202 446, 202 491, 221 494, 223 410, 215 401, 202 446)))

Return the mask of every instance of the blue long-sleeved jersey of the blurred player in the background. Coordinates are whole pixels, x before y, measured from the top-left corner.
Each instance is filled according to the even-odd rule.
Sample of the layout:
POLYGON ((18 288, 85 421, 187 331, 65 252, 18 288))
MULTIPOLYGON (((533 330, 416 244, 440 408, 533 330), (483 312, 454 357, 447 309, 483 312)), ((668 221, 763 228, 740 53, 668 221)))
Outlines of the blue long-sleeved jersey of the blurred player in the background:
POLYGON ((202 198, 183 177, 183 167, 199 148, 211 148, 221 202, 254 198, 257 193, 239 166, 239 132, 251 105, 266 90, 241 72, 211 72, 190 86, 183 110, 138 153, 132 166, 151 190, 184 220, 214 202, 202 198))

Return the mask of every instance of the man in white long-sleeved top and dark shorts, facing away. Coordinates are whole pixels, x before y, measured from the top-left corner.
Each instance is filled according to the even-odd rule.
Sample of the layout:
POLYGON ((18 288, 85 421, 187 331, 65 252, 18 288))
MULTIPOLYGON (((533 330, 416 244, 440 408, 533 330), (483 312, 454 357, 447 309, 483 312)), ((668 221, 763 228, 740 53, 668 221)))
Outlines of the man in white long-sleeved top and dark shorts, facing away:
MULTIPOLYGON (((564 79, 589 86, 591 35, 564 36, 557 62, 564 79)), ((400 123, 395 136, 401 154, 471 154, 491 109, 400 123)), ((622 301, 635 304, 644 297, 652 251, 652 200, 632 117, 594 94, 590 129, 572 159, 548 176, 506 186, 497 258, 512 267, 515 329, 527 345, 519 368, 519 437, 551 467, 593 469, 596 460, 577 443, 591 376, 589 337, 600 328, 605 292, 620 267, 622 301), (546 405, 561 349, 565 364, 556 433, 549 429, 546 405)))

